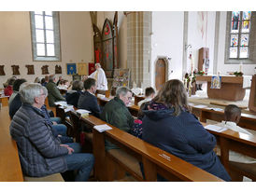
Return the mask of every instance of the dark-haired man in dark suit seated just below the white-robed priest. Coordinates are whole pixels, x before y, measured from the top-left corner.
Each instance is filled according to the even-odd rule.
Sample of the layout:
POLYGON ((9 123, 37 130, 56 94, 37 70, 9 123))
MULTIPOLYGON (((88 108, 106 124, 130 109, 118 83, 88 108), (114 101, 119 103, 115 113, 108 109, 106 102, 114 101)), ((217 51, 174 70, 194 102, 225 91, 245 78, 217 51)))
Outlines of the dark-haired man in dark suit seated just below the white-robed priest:
POLYGON ((87 78, 83 82, 83 88, 85 91, 81 93, 78 99, 78 109, 85 109, 91 111, 92 116, 100 117, 101 108, 97 102, 97 98, 94 95, 97 89, 96 80, 94 78, 87 78))

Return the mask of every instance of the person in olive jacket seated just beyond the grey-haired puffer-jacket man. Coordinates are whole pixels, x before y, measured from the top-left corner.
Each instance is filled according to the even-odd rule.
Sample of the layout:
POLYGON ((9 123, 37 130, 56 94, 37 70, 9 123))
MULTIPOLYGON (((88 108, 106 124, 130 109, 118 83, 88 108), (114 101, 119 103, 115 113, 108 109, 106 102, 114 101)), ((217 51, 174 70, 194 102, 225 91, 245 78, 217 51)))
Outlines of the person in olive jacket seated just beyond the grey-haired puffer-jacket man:
POLYGON ((57 77, 56 75, 50 75, 49 83, 46 85, 48 89, 48 101, 50 106, 55 106, 55 102, 65 101, 64 97, 62 96, 60 90, 57 88, 56 85, 57 77))

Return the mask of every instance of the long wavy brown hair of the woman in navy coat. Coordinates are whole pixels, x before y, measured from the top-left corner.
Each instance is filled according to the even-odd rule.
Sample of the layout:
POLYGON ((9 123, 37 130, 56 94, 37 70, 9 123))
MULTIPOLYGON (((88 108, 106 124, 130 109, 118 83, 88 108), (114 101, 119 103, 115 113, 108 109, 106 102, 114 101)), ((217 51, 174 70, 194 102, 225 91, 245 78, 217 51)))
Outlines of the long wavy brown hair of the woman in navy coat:
POLYGON ((165 82, 162 89, 159 90, 153 102, 164 103, 168 107, 174 107, 174 115, 178 116, 182 108, 189 109, 187 92, 183 83, 178 79, 172 79, 165 82))

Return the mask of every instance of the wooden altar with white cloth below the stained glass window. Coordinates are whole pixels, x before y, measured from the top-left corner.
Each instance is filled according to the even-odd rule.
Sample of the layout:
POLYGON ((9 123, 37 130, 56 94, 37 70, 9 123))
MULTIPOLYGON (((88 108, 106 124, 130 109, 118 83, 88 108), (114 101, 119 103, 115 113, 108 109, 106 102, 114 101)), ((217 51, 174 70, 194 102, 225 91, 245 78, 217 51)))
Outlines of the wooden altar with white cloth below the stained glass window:
POLYGON ((210 99, 220 99, 227 101, 241 101, 246 94, 246 88, 250 87, 251 76, 220 75, 220 89, 211 89, 213 75, 196 75, 196 82, 207 82, 207 96, 210 99))

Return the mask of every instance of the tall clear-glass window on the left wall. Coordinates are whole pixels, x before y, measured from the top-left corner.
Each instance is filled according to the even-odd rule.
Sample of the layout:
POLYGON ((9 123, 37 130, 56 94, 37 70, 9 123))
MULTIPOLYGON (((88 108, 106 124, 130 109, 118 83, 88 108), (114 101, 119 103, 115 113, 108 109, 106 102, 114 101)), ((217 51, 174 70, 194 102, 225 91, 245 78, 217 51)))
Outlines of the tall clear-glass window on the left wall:
POLYGON ((59 13, 32 11, 30 18, 34 61, 61 61, 59 13))

